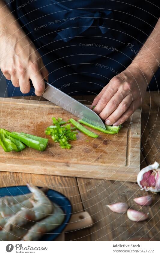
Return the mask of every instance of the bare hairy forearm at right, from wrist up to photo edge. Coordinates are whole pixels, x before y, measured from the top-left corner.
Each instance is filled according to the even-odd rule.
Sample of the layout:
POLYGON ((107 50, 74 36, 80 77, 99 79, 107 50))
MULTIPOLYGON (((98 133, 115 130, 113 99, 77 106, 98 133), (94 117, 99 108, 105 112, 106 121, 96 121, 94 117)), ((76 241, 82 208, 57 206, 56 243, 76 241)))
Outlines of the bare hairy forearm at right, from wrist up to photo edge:
POLYGON ((160 19, 158 20, 152 33, 140 49, 137 56, 129 67, 135 67, 146 78, 147 83, 151 81, 153 75, 158 69, 160 62, 160 19))

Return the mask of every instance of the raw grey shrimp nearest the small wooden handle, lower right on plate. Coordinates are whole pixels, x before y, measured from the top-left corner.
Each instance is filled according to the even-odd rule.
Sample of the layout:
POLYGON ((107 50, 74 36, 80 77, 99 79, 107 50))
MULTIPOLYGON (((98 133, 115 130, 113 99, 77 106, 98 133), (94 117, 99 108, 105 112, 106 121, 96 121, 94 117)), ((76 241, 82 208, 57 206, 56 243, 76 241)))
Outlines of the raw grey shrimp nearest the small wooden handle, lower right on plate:
POLYGON ((64 212, 62 209, 54 204, 53 211, 50 216, 41 220, 31 227, 27 234, 23 237, 22 241, 38 241, 45 233, 55 229, 64 220, 64 212))

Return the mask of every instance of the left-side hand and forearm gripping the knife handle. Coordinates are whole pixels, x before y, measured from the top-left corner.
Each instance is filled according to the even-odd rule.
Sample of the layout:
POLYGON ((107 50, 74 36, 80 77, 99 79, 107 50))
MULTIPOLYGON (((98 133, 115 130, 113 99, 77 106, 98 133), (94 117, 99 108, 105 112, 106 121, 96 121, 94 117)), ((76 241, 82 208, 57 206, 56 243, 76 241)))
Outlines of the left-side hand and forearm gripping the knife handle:
POLYGON ((29 79, 31 79, 35 94, 40 96, 44 92, 44 78, 48 79, 48 71, 42 58, 3 1, 0 3, 0 15, 2 28, 0 31, 0 68, 2 73, 12 81, 15 87, 20 87, 22 93, 30 91, 29 79))

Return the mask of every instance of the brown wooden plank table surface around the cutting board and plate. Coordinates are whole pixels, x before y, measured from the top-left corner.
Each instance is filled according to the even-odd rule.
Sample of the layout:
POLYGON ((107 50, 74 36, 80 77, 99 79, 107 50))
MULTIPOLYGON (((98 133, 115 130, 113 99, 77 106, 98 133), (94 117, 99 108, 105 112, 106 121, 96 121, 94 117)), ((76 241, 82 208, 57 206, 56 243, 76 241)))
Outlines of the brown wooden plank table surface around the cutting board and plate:
MULTIPOLYGON (((37 96, 25 99, 44 100, 37 96)), ((92 102, 93 96, 77 96, 83 104, 92 102)), ((22 97, 21 97, 22 99, 22 97)), ((142 107, 141 117, 141 166, 160 163, 160 115, 159 93, 147 92, 142 107)), ((62 176, 26 174, 16 172, 0 172, 0 187, 26 185, 33 182, 38 186, 48 186, 67 196, 73 206, 73 213, 86 210, 92 216, 94 225, 65 233, 65 240, 74 241, 158 241, 159 234, 159 194, 151 194, 154 203, 141 206, 133 199, 149 192, 141 191, 136 183, 110 180, 69 178, 62 176), (126 214, 111 212, 106 205, 114 202, 127 202, 135 210, 149 212, 149 219, 134 223, 126 214)))

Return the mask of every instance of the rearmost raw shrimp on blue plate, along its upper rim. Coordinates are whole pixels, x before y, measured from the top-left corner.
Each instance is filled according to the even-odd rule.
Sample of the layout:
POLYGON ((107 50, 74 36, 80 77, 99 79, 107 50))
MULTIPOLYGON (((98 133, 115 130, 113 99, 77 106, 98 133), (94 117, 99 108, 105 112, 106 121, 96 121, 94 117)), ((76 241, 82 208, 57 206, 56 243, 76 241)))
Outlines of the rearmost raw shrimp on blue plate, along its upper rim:
MULTIPOLYGON (((48 188, 40 188, 41 191, 46 193, 48 191, 48 188)), ((12 204, 17 204, 25 201, 26 199, 32 198, 33 194, 28 193, 28 194, 22 194, 18 196, 4 196, 0 198, 0 205, 5 206, 5 205, 12 205, 12 204)))

